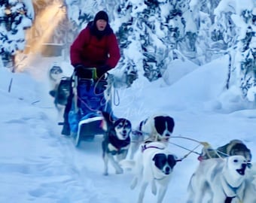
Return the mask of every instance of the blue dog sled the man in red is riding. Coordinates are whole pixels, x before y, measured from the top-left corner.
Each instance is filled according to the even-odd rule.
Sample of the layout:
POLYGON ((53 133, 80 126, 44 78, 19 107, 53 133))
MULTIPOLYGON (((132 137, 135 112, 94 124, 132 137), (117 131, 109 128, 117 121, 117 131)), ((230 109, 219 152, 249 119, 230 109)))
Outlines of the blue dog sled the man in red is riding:
POLYGON ((95 135, 105 134, 102 111, 111 111, 111 74, 98 78, 96 68, 86 71, 84 75, 72 75, 69 126, 76 147, 81 141, 93 141, 95 135))

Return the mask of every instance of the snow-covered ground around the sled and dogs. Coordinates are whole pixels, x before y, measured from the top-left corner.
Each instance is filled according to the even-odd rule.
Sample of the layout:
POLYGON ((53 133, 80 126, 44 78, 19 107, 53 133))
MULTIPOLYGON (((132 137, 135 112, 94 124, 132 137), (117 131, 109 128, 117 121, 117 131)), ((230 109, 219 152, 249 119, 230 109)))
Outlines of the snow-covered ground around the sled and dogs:
MULTIPOLYGON (((60 135, 60 118, 48 95, 47 79, 47 68, 56 62, 69 67, 62 59, 37 56, 36 65, 22 73, 0 69, 0 202, 135 202, 139 187, 130 189, 130 171, 114 174, 110 167, 109 176, 102 175, 101 136, 77 148, 72 138, 60 135)), ((191 65, 185 61, 183 67, 186 64, 191 65)), ((114 114, 131 120, 133 129, 151 114, 169 114, 175 120, 169 148, 179 158, 189 153, 181 147, 193 150, 198 145, 180 136, 207 141, 212 147, 241 139, 255 162, 256 110, 236 98, 237 89, 221 93, 227 58, 190 72, 182 69, 180 65, 173 70, 177 78, 169 86, 162 79, 153 83, 136 80, 128 89, 116 89, 120 104, 114 106, 114 114)), ((201 148, 195 151, 200 153, 201 148)), ((185 202, 187 184, 197 165, 195 153, 178 162, 163 202, 185 202)), ((148 189, 145 202, 155 198, 148 189)))

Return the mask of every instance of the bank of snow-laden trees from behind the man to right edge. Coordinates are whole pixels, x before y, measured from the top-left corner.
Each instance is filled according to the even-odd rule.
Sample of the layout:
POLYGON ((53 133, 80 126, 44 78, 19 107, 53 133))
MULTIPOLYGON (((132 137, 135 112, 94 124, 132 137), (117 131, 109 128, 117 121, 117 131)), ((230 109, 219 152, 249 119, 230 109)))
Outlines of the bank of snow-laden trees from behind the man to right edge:
POLYGON ((138 77, 157 80, 176 59, 203 65, 225 54, 227 88, 239 86, 246 96, 255 86, 253 0, 66 0, 66 5, 80 29, 97 11, 108 12, 122 53, 116 69, 127 86, 138 77))

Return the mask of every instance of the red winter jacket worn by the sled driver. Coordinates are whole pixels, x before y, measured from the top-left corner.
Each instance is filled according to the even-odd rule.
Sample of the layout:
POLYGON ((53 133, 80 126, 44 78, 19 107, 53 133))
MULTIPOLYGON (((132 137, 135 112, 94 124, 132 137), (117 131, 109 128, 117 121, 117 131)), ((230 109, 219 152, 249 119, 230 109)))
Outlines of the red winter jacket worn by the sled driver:
POLYGON ((109 25, 100 38, 92 31, 93 22, 88 23, 71 46, 70 58, 72 65, 84 65, 87 68, 99 68, 108 65, 114 68, 120 59, 117 38, 109 25))

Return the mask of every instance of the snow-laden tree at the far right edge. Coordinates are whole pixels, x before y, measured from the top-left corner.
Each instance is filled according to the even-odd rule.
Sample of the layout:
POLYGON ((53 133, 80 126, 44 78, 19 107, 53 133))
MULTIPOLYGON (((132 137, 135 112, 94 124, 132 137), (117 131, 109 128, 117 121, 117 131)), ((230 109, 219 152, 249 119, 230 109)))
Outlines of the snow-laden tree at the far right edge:
POLYGON ((230 55, 227 88, 236 86, 247 98, 248 89, 256 85, 254 2, 222 1, 215 10, 220 44, 218 51, 230 55), (224 51, 223 51, 224 50, 224 51))

